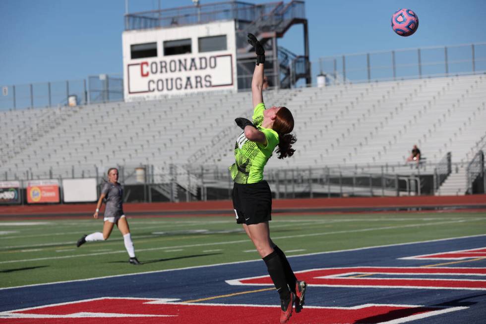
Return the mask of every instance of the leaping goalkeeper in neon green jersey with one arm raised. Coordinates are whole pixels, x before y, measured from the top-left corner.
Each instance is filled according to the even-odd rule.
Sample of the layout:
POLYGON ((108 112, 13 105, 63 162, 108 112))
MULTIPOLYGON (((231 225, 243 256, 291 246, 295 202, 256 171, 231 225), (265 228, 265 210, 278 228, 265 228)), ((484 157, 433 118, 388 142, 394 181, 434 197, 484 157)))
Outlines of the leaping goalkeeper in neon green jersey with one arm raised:
POLYGON ((234 180, 233 207, 237 224, 242 224, 268 268, 281 300, 280 323, 286 323, 304 304, 306 283, 298 281, 285 254, 270 239, 268 222, 272 219, 272 194, 263 180, 263 168, 275 148, 277 158, 294 154, 292 144, 297 140, 291 134, 294 118, 286 107, 265 109, 263 104, 263 67, 265 50, 256 37, 248 34, 248 43, 255 48, 256 66, 251 81, 252 121, 237 118, 243 129, 235 144, 235 163, 230 167, 234 180))

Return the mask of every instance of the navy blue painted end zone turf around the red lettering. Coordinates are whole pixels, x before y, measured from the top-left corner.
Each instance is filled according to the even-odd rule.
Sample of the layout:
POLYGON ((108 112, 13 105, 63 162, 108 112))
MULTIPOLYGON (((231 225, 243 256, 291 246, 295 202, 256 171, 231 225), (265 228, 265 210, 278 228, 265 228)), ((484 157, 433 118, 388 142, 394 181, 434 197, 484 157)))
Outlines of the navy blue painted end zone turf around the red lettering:
MULTIPOLYGON (((317 308, 312 307, 329 308, 328 312, 333 312, 335 309, 356 308, 365 304, 424 306, 440 310, 440 312, 426 317, 423 315, 416 315, 415 317, 398 316, 396 319, 386 316, 372 317, 365 322, 353 320, 354 322, 349 323, 380 323, 380 319, 386 319, 381 323, 484 323, 486 318, 486 257, 481 249, 485 248, 486 236, 479 235, 289 257, 294 271, 298 272, 298 278, 305 276, 309 283, 304 310, 300 314, 294 314, 292 317, 294 322, 291 323, 301 323, 299 322, 301 316, 303 317, 304 314, 308 316, 317 312, 317 308), (457 251, 462 251, 463 254, 469 253, 471 257, 454 257, 451 253, 457 251), (443 255, 444 253, 450 253, 450 255, 440 257, 442 259, 430 256, 433 254, 443 255), (424 255, 425 257, 423 257, 424 255), (416 258, 401 259, 410 257, 416 258), (335 268, 343 268, 344 270, 337 276, 323 278, 326 275, 326 270, 322 269, 335 268), (373 271, 370 271, 370 268, 377 269, 377 273, 372 273, 373 271), (388 268, 392 269, 391 272, 389 274, 383 273, 384 269, 388 268), (410 270, 413 272, 412 274, 409 269, 414 269, 413 271, 410 270), (454 274, 453 269, 461 269, 460 271, 463 274, 454 274), (308 270, 313 270, 314 275, 309 276, 308 270), (449 271, 450 273, 448 273, 449 271), (406 274, 400 275, 400 273, 406 274), (343 278, 347 280, 344 284, 343 278), (377 280, 373 280, 399 280, 399 278, 406 278, 405 284, 410 286, 425 281, 425 286, 404 288, 402 287, 403 283, 384 281, 380 284, 379 280, 378 283, 376 283, 377 280), (334 280, 341 281, 334 282, 334 280), (367 282, 365 280, 368 280, 371 286, 364 286, 363 282, 367 282), (454 286, 443 287, 444 282, 454 286), (475 286, 471 287, 471 283, 475 286)), ((238 279, 242 279, 240 282, 244 283, 244 278, 266 274, 264 262, 253 260, 82 281, 4 288, 0 290, 0 310, 3 312, 0 313, 0 323, 3 321, 8 321, 8 323, 10 321, 13 321, 11 323, 25 321, 21 318, 11 319, 9 311, 101 297, 171 299, 174 300, 174 303, 189 301, 190 303, 211 305, 277 306, 279 299, 275 289, 261 291, 265 288, 272 288, 272 285, 265 283, 264 278, 261 283, 234 284, 235 280, 238 279), (227 280, 231 280, 230 283, 233 284, 228 283, 227 280), (7 318, 9 319, 7 320, 7 318)), ((272 316, 278 314, 277 311, 272 310, 272 312, 274 312, 272 316)), ((124 310, 120 309, 120 314, 123 313, 124 310)), ((274 317, 277 320, 277 315, 274 317)), ((332 316, 330 315, 330 317, 332 316)), ((163 319, 159 318, 157 323, 166 323, 163 319)), ((51 323, 47 318, 44 320, 44 323, 51 323)), ((220 320, 226 322, 218 322, 218 318, 213 318, 212 323, 228 323, 225 319, 220 320)), ((101 318, 99 319, 99 323, 104 321, 101 318)), ((261 323, 267 323, 264 322, 266 320, 262 321, 261 323)), ((326 319, 318 321, 320 322, 315 323, 328 323, 326 319)), ((346 321, 346 319, 343 319, 343 321, 346 321)), ((137 323, 145 322, 138 321, 137 323)), ((275 323, 277 322, 275 321, 275 323)))

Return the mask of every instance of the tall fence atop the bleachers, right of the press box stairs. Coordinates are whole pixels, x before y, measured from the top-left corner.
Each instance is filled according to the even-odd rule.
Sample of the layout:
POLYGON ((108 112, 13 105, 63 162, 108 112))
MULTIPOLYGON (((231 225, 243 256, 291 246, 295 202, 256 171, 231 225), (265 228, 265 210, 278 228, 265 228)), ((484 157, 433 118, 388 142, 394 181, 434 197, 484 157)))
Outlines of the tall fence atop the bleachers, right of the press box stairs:
POLYGON ((486 71, 486 43, 322 57, 312 69, 330 84, 474 74, 486 71))

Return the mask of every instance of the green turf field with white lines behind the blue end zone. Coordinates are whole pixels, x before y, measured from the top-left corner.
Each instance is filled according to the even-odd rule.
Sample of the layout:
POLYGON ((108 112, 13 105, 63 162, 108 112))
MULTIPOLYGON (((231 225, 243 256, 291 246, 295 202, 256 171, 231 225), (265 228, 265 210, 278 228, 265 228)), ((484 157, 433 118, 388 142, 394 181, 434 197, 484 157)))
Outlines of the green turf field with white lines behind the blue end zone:
MULTIPOLYGON (((271 237, 288 256, 486 234, 484 213, 274 215, 271 237)), ((76 248, 102 220, 0 221, 0 287, 259 259, 234 217, 129 218, 140 266, 115 228, 76 248)))

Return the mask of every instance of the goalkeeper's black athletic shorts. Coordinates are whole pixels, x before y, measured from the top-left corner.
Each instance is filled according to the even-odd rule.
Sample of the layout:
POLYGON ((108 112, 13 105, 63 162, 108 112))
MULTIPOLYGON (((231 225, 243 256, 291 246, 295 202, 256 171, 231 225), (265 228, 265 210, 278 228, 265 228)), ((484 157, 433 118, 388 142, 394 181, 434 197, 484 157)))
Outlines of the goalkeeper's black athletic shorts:
POLYGON ((272 193, 263 180, 233 186, 233 208, 237 224, 258 224, 272 220, 272 193))

